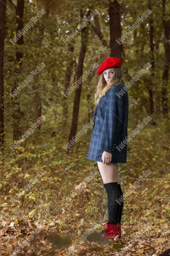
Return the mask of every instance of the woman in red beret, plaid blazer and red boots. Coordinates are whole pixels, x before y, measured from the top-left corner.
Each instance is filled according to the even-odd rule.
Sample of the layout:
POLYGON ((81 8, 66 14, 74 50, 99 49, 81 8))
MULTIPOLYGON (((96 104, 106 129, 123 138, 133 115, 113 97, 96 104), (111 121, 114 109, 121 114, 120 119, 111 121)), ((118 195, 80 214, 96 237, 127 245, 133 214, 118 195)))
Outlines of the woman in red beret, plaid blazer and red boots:
POLYGON ((117 163, 126 162, 128 135, 128 91, 122 84, 121 60, 110 57, 97 70, 94 129, 87 159, 97 161, 108 198, 108 223, 101 237, 121 238, 123 193, 117 163), (125 138, 126 137, 126 138, 125 138))

